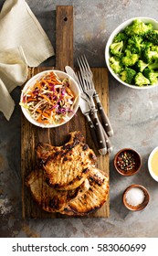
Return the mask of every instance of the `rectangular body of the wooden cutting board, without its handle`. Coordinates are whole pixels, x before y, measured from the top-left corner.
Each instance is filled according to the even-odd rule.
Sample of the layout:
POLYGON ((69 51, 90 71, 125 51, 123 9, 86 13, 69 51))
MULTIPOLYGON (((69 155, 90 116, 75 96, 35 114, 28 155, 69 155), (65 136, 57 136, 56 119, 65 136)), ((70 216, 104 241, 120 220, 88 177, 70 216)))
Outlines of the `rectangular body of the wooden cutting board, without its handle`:
MULTIPOLYGON (((50 68, 33 68, 29 69, 30 79, 38 72, 50 69, 50 68)), ((52 68, 53 69, 53 68, 52 68)), ((106 68, 93 68, 94 82, 96 90, 100 94, 100 100, 102 102, 105 112, 108 113, 108 70, 106 68)), ((35 168, 35 147, 39 142, 48 143, 53 145, 61 145, 68 142, 68 133, 72 131, 81 131, 86 138, 87 144, 92 148, 98 157, 97 166, 109 176, 109 155, 99 155, 98 151, 93 144, 90 135, 90 128, 86 123, 85 117, 80 110, 72 118, 72 120, 58 128, 43 129, 39 128, 29 122, 27 122, 25 116, 21 117, 21 170, 22 170, 22 203, 23 203, 23 218, 24 219, 38 219, 38 218, 70 218, 60 215, 58 213, 47 213, 39 208, 36 202, 31 197, 29 191, 26 188, 25 180, 26 176, 35 168)), ((106 218, 110 214, 109 200, 93 214, 90 214, 87 218, 106 218)))

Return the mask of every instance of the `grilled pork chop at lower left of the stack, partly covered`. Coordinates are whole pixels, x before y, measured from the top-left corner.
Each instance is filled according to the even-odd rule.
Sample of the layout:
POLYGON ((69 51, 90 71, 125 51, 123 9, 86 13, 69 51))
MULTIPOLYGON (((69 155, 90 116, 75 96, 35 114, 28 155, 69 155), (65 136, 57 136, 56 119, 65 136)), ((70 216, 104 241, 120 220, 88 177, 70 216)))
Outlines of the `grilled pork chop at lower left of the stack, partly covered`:
POLYGON ((42 170, 32 171, 26 178, 26 186, 37 204, 48 212, 59 212, 68 206, 68 202, 81 197, 90 187, 88 179, 73 190, 57 190, 49 187, 44 180, 42 170))

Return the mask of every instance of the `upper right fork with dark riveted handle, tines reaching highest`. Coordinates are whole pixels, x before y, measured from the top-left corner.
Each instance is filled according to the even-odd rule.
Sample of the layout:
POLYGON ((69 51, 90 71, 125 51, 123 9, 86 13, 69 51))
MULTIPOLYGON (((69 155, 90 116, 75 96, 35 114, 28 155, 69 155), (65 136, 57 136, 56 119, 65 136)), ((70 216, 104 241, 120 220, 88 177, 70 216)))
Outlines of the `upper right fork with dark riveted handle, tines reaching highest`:
MULTIPOLYGON (((82 77, 87 80, 90 80, 90 86, 91 89, 93 90, 93 95, 92 97, 95 98, 96 102, 97 102, 97 107, 98 110, 100 112, 100 118, 102 120, 102 125, 105 128, 106 132, 108 133, 109 136, 113 135, 113 130, 111 127, 111 122, 108 118, 108 115, 106 114, 106 112, 104 112, 102 104, 100 102, 100 98, 99 98, 99 94, 97 93, 97 91, 95 90, 94 87, 94 82, 93 82, 93 74, 92 71, 90 69, 90 65, 88 60, 86 59, 85 55, 82 55, 80 58, 77 59, 78 60, 78 64, 79 64, 79 69, 81 70, 82 73, 82 77)), ((92 92, 91 92, 92 93, 92 92)), ((91 93, 90 93, 90 97, 91 97, 91 93)))

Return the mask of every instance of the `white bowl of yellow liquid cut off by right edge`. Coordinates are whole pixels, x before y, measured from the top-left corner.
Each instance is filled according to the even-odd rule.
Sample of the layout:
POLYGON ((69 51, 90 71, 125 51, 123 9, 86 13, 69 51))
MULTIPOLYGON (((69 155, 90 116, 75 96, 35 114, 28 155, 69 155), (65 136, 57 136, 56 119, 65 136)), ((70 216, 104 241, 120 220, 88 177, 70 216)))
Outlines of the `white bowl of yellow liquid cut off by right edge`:
POLYGON ((148 170, 153 179, 158 182, 158 146, 149 155, 148 170))

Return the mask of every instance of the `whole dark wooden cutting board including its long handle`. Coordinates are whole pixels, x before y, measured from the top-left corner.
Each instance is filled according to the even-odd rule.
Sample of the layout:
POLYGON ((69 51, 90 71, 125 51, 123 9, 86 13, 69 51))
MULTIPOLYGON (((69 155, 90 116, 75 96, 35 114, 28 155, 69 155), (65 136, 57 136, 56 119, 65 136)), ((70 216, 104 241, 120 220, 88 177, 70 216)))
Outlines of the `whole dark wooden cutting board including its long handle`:
MULTIPOLYGON (((57 6, 56 11, 56 68, 42 67, 30 68, 27 80, 38 72, 47 69, 64 70, 66 65, 73 68, 73 7, 57 6)), ((106 68, 93 68, 94 82, 96 90, 100 94, 100 101, 103 104, 105 112, 109 109, 109 87, 108 87, 108 70, 106 68)), ((30 192, 26 188, 26 176, 35 168, 36 155, 35 147, 41 143, 61 145, 68 142, 68 133, 81 131, 85 136, 87 144, 98 156, 97 166, 109 176, 109 155, 99 155, 91 139, 90 129, 86 123, 85 117, 80 110, 71 119, 70 122, 61 125, 58 128, 43 129, 29 123, 25 116, 21 116, 21 171, 22 171, 22 215, 23 219, 45 219, 45 218, 72 218, 59 213, 48 213, 37 206, 30 192)), ((110 214, 109 200, 88 218, 106 218, 110 214)))

